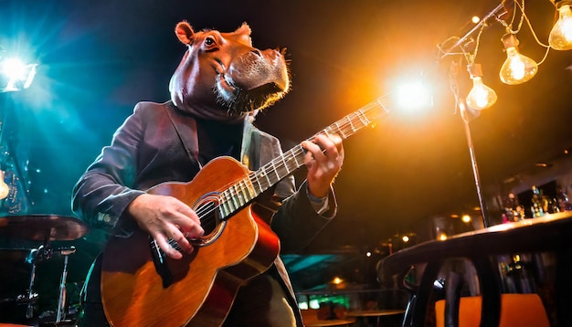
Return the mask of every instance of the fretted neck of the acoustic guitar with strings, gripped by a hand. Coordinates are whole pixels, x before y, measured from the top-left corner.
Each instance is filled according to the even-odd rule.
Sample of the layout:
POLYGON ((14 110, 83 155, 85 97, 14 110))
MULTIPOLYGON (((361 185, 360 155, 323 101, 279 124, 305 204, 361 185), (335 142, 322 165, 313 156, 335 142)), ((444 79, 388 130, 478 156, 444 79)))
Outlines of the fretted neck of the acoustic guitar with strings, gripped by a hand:
MULTIPOLYGON (((312 141, 315 135, 319 134, 337 134, 342 139, 346 139, 385 116, 388 112, 383 98, 378 98, 359 110, 346 115, 341 120, 335 121, 307 141, 312 141)), ((228 187, 220 194, 220 218, 224 220, 232 216, 238 209, 246 206, 264 191, 302 167, 305 153, 306 150, 302 144, 298 144, 274 158, 270 163, 266 163, 259 170, 252 172, 248 177, 228 187)))

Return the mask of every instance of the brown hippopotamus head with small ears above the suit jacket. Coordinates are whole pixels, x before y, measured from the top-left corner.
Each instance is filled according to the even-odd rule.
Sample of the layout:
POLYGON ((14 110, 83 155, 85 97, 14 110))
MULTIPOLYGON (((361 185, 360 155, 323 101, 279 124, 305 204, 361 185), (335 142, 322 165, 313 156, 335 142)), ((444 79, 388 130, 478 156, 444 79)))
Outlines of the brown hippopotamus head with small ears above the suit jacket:
POLYGON ((187 46, 169 90, 183 111, 208 119, 235 120, 260 111, 290 90, 290 75, 277 49, 252 47, 245 23, 231 33, 195 32, 184 22, 175 27, 187 46))

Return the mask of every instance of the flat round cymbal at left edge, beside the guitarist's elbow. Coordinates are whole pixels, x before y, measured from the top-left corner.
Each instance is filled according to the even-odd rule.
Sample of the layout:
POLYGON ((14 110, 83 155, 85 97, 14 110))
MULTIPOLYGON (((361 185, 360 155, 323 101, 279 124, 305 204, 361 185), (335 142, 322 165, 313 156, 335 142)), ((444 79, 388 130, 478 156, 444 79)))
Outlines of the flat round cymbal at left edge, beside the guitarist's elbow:
POLYGON ((0 217, 0 234, 37 241, 73 240, 90 231, 72 216, 29 215, 0 217))

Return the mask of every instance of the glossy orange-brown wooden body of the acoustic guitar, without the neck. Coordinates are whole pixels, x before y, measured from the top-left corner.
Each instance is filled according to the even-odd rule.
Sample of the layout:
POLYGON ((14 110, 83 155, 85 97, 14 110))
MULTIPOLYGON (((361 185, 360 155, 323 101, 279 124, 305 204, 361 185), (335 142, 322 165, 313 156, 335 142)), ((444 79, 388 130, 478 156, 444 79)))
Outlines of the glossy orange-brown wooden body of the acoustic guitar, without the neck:
MULTIPOLYGON (((172 195, 194 207, 249 174, 238 161, 221 157, 189 183, 164 183, 148 193, 172 195)), ((207 230, 207 229, 206 229, 207 230)), ((207 232, 206 232, 207 234, 207 232)), ((111 237, 102 257, 101 300, 113 326, 219 326, 238 288, 272 265, 280 241, 251 205, 238 210, 205 236, 192 255, 166 258, 164 284, 149 247, 149 236, 111 237), (211 237, 212 239, 208 239, 211 237)))

